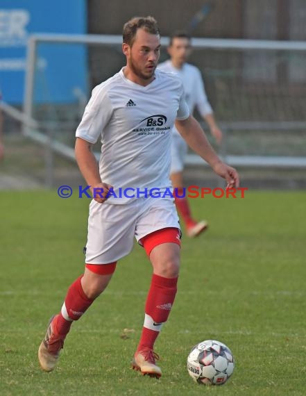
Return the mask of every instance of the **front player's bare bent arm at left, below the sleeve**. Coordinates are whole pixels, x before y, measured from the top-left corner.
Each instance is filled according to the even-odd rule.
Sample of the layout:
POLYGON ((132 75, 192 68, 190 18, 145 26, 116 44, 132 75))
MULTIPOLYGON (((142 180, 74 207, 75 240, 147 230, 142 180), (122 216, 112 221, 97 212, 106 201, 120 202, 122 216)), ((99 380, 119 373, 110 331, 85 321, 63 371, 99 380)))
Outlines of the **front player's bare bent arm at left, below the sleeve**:
POLYGON ((96 162, 92 147, 92 143, 86 142, 86 140, 82 138, 76 138, 76 162, 78 163, 80 172, 87 182, 87 185, 91 186, 90 190, 92 191, 92 197, 95 201, 103 204, 106 199, 105 196, 112 186, 101 181, 98 163, 96 162), (94 189, 103 189, 103 191, 94 189), (99 191, 99 194, 96 193, 96 195, 94 195, 94 191, 99 191))

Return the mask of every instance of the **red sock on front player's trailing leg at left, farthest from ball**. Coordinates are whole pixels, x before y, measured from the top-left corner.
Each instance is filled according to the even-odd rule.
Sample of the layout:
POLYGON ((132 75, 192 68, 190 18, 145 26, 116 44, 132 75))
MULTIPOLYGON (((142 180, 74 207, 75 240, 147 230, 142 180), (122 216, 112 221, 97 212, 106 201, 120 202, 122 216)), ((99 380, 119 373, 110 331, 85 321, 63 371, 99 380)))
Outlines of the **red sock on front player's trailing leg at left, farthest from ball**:
POLYGON ((56 317, 56 332, 66 335, 74 320, 80 319, 94 299, 89 299, 83 291, 80 280, 83 275, 76 279, 69 287, 62 311, 56 317))

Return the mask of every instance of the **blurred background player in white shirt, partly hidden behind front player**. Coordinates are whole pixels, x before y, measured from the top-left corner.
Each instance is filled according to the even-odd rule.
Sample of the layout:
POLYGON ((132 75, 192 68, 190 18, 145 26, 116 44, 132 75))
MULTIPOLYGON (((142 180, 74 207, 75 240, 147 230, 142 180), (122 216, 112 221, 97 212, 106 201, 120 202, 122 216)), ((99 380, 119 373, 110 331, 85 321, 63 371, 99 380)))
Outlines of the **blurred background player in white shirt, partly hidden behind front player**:
MULTIPOLYGON (((164 72, 176 73, 180 76, 185 90, 185 99, 190 113, 194 113, 194 108, 198 109, 200 115, 205 119, 210 127, 210 133, 219 144, 222 139, 222 132, 216 124, 212 107, 205 93, 205 87, 200 70, 194 65, 187 63, 187 59, 192 51, 191 38, 184 31, 178 31, 170 36, 169 47, 167 48, 170 59, 158 65, 158 69, 164 72)), ((192 213, 184 195, 183 190, 183 169, 185 156, 187 154, 187 143, 182 138, 176 127, 173 128, 173 140, 171 145, 171 181, 175 192, 177 192, 176 208, 189 237, 198 236, 207 229, 207 222, 202 220, 196 222, 192 218, 192 213)))

